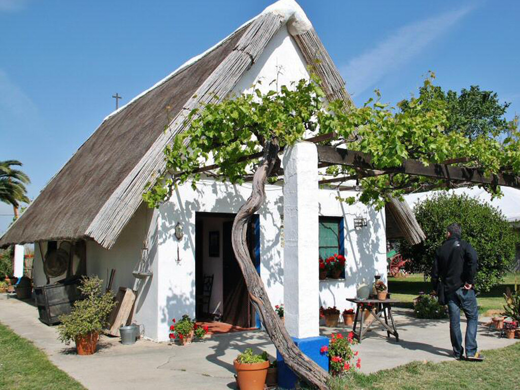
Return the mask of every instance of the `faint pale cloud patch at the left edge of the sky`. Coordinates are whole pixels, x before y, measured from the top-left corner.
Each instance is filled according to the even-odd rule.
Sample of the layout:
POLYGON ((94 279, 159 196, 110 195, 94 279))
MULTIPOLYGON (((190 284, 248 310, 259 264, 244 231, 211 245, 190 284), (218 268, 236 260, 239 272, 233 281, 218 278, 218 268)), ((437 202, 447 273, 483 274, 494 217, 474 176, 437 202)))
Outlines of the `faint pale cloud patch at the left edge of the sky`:
POLYGON ((34 117, 37 113, 33 101, 2 69, 0 69, 0 113, 24 120, 34 117))

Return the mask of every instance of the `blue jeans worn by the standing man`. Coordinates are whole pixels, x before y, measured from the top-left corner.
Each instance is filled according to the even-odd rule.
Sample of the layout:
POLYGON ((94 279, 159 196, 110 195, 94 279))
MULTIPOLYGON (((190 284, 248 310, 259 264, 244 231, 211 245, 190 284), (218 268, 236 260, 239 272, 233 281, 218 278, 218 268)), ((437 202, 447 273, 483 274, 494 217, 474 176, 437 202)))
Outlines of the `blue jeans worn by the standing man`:
POLYGON ((450 316, 450 339, 455 356, 463 356, 462 333, 460 331, 460 309, 466 316, 466 356, 475 356, 477 352, 477 323, 478 308, 475 290, 466 290, 463 287, 448 294, 448 313, 450 316))

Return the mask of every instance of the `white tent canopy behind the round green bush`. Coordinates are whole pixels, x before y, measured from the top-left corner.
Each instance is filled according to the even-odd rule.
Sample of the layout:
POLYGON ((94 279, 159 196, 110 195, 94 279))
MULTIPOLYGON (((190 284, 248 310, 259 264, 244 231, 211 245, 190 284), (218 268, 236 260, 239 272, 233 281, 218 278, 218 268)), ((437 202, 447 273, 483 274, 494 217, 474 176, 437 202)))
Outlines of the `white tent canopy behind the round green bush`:
MULTIPOLYGON (((471 187, 471 188, 457 188, 447 191, 448 193, 466 194, 471 198, 476 198, 481 202, 489 203, 491 206, 500 210, 505 218, 511 222, 520 222, 520 190, 511 187, 501 187, 503 197, 491 199, 491 195, 482 188, 471 187)), ((408 202, 410 207, 414 207, 419 201, 427 198, 431 198, 435 193, 443 191, 428 191, 411 193, 405 195, 405 200, 408 202)))

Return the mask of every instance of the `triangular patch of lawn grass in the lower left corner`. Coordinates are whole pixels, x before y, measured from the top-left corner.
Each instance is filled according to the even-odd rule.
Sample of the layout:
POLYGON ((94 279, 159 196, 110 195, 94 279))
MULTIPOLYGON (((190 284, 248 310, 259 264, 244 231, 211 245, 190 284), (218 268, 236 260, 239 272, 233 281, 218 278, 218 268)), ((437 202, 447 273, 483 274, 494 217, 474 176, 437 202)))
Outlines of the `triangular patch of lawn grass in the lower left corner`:
POLYGON ((0 324, 0 389, 85 389, 49 361, 45 353, 0 324))

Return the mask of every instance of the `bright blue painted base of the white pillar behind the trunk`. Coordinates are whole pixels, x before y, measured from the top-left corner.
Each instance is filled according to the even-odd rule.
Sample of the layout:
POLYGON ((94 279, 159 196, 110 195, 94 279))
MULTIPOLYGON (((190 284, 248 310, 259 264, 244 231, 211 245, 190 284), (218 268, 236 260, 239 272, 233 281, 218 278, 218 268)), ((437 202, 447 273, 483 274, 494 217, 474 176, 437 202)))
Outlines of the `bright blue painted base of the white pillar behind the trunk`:
MULTIPOLYGON (((306 337, 305 339, 296 339, 296 337, 293 337, 293 340, 305 355, 318 363, 323 370, 329 372, 329 357, 326 354, 320 354, 321 347, 323 345, 329 345, 328 337, 306 337)), ((298 377, 285 365, 278 351, 276 353, 276 360, 278 365, 278 387, 287 389, 294 388, 298 377)))

